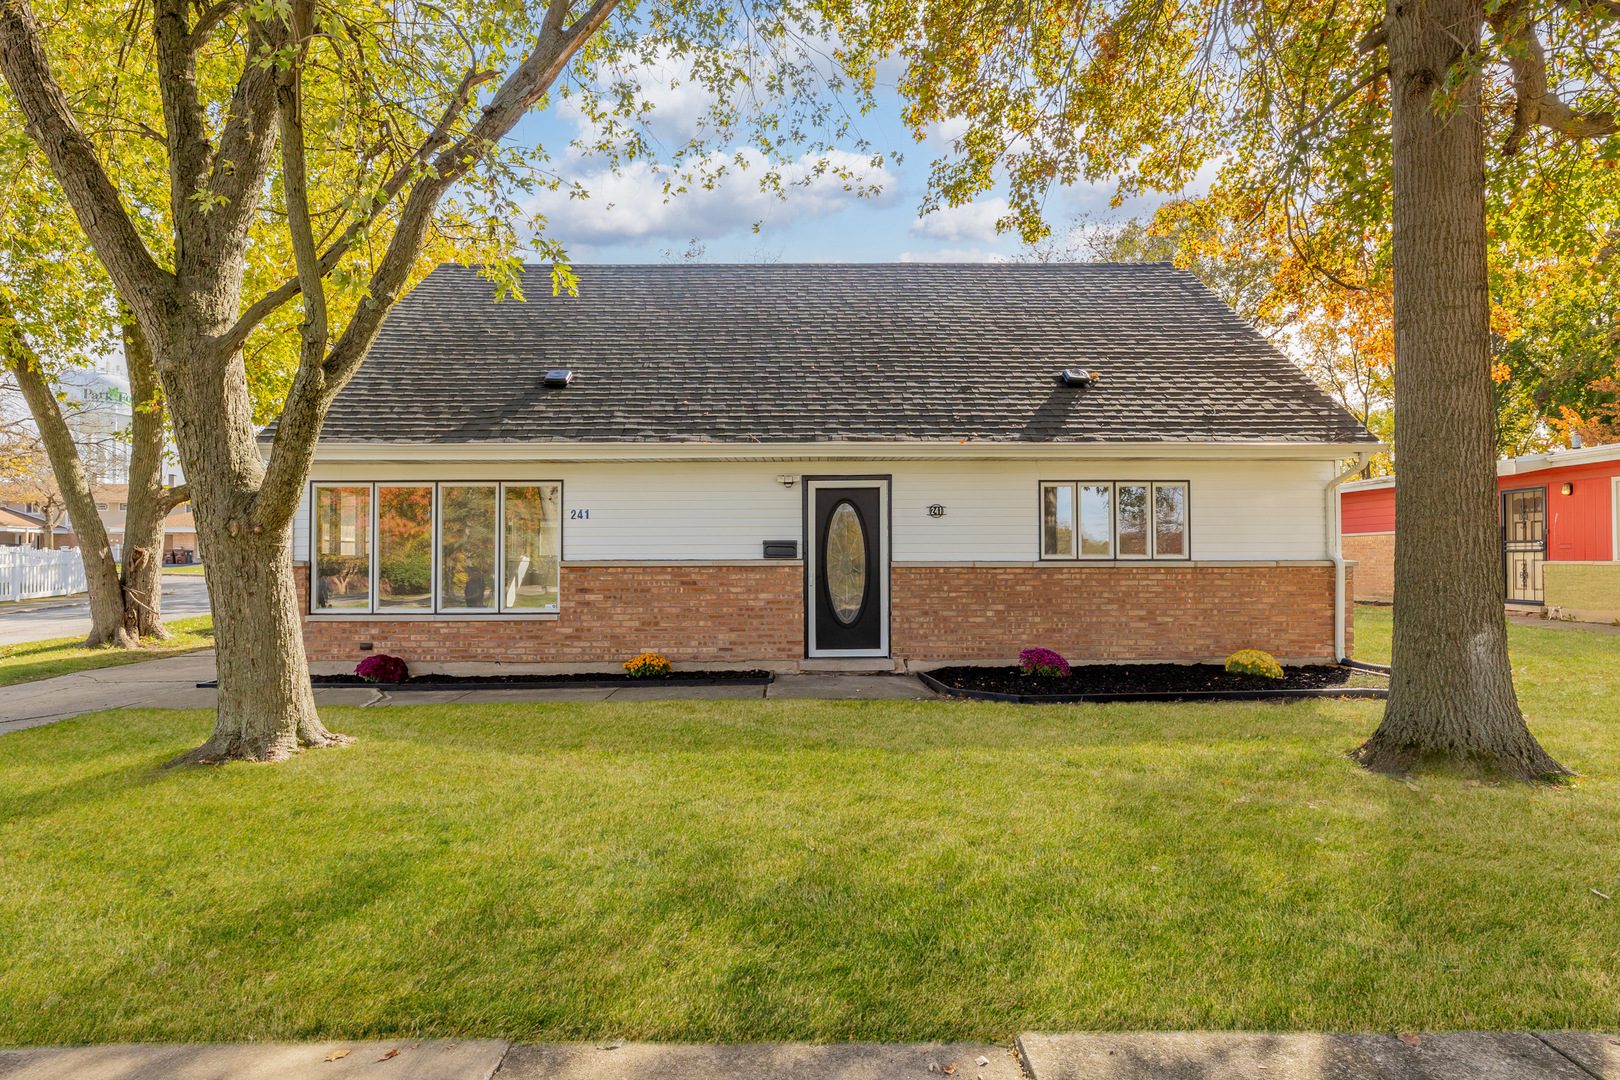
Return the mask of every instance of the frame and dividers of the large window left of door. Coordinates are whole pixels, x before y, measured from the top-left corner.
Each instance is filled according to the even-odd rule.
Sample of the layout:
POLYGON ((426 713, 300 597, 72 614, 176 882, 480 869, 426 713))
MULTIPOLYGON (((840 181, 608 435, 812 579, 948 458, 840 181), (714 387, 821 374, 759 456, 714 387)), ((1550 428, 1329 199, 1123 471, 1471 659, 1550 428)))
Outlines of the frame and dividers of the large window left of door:
POLYGON ((564 523, 569 520, 567 515, 567 484, 562 479, 356 479, 356 481, 309 481, 308 492, 309 513, 306 518, 308 525, 308 554, 306 565, 309 567, 309 588, 305 594, 305 610, 311 619, 557 619, 562 614, 562 565, 567 562, 567 529, 564 523), (551 609, 536 607, 507 607, 505 606, 505 589, 502 588, 505 575, 505 491, 507 487, 543 487, 546 484, 556 484, 557 487, 557 606, 551 609), (364 609, 350 607, 342 610, 318 609, 316 607, 316 588, 319 578, 316 576, 316 512, 318 512, 318 495, 316 492, 322 487, 366 487, 371 494, 371 515, 368 523, 368 551, 371 559, 371 578, 369 578, 369 602, 364 609), (377 585, 381 573, 381 560, 377 552, 379 541, 379 515, 381 502, 377 499, 377 491, 382 487, 428 487, 433 492, 433 567, 431 567, 431 597, 433 604, 429 607, 400 607, 400 609, 384 609, 377 604, 377 585), (492 583, 494 606, 491 607, 442 607, 439 602, 439 578, 441 578, 441 536, 444 531, 444 487, 494 487, 496 489, 496 562, 494 573, 496 580, 492 583))

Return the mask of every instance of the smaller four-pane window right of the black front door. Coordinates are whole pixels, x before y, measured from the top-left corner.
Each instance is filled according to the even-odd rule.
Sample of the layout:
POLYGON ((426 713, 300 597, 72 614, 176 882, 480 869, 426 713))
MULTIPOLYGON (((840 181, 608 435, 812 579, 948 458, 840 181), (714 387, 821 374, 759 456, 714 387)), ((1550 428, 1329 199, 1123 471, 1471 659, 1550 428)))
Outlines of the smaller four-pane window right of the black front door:
POLYGON ((1043 481, 1042 559, 1187 559, 1186 481, 1043 481))

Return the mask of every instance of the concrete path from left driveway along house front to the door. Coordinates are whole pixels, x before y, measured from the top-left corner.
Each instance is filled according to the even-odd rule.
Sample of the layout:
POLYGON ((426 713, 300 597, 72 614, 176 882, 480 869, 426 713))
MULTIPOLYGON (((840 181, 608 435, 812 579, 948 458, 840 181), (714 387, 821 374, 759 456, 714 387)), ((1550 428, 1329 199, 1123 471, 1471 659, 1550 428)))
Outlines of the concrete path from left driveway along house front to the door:
MULTIPOLYGON (((214 653, 188 653, 143 664, 99 667, 15 687, 0 687, 0 733, 65 721, 100 709, 212 709, 215 691, 198 690, 214 678, 214 653)), ((314 691, 314 703, 358 704, 496 704, 514 701, 713 701, 760 698, 933 698, 915 675, 778 675, 768 687, 609 687, 606 690, 405 690, 368 687, 314 691)))

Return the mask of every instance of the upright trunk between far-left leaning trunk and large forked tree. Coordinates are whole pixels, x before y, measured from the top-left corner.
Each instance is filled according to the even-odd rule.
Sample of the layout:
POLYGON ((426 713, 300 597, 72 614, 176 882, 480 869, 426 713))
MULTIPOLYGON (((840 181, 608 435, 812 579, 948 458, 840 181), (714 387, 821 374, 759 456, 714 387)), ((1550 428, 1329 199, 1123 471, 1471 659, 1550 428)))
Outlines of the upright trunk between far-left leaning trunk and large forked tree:
POLYGON ((123 521, 123 628, 130 636, 167 638, 164 627, 164 518, 185 489, 164 489, 164 398, 152 351, 134 317, 123 317, 123 358, 133 398, 130 505, 123 521))

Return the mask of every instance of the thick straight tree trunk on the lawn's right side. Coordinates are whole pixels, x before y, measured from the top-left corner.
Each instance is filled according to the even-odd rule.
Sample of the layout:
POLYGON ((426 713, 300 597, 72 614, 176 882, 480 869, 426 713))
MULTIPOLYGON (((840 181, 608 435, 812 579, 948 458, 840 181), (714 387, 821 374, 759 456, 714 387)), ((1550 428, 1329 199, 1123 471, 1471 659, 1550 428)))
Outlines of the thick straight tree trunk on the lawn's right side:
POLYGON ((1390 2, 1395 180, 1395 636, 1390 698, 1362 764, 1567 771, 1520 714, 1497 518, 1486 162, 1479 81, 1435 91, 1477 47, 1481 0, 1390 2))

